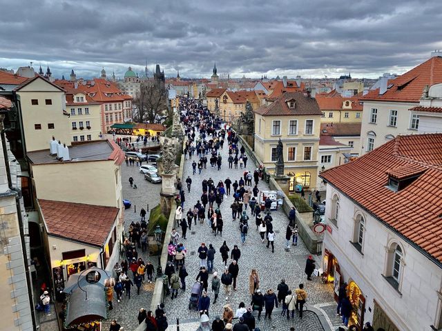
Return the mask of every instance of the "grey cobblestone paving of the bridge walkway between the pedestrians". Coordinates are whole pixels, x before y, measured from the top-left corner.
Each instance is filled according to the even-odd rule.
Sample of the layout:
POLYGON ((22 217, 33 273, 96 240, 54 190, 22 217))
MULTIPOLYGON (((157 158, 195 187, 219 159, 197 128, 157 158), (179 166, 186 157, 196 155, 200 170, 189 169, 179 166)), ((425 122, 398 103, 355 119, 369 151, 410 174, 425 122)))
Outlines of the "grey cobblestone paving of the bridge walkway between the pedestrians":
MULTIPOLYGON (((191 192, 188 193, 185 189, 185 203, 183 208, 183 214, 186 214, 189 208, 193 208, 193 205, 200 200, 202 194, 201 182, 203 179, 209 179, 211 177, 216 185, 218 181, 224 180, 230 177, 232 181, 240 179, 242 177, 244 169, 229 169, 227 158, 228 158, 228 146, 227 143, 224 144, 224 149, 220 150, 222 155, 222 167, 221 170, 216 168, 211 168, 208 163, 207 169, 202 170, 201 174, 198 171, 193 175, 191 168, 192 161, 186 160, 184 164, 184 174, 183 181, 188 176, 191 176, 193 183, 191 187, 191 192)), ((193 157, 195 159, 195 157, 193 157)), ((250 157, 249 157, 250 160, 250 157)), ((253 164, 250 161, 247 163, 247 170, 254 170, 253 164)), ((185 186, 184 186, 185 188, 185 186)), ((260 181, 258 184, 260 190, 269 190, 269 186, 265 181, 260 181)), ((249 294, 249 274, 252 268, 258 270, 260 275, 260 288, 265 291, 269 288, 276 290, 280 279, 285 278, 287 285, 291 290, 298 287, 299 283, 305 284, 305 290, 309 294, 307 299, 308 305, 316 305, 319 303, 325 303, 333 300, 332 288, 329 285, 324 285, 320 279, 315 279, 314 281, 307 281, 307 276, 305 275, 305 261, 309 252, 305 248, 302 241, 298 241, 298 246, 292 246, 287 252, 285 250, 285 230, 287 228, 288 219, 282 209, 278 211, 272 211, 271 216, 273 217, 273 230, 276 232, 275 239, 275 252, 271 252, 271 248, 267 248, 265 243, 261 242, 260 235, 256 230, 254 223, 254 217, 251 217, 250 208, 247 209, 247 215, 250 217, 249 220, 249 234, 247 235, 247 241, 245 245, 241 245, 240 241, 240 230, 238 219, 232 221, 230 205, 233 202, 232 196, 224 197, 224 202, 221 204, 220 210, 224 219, 224 228, 222 232, 222 237, 219 235, 214 237, 211 232, 211 228, 207 223, 192 226, 192 232, 187 234, 187 239, 182 240, 184 245, 188 250, 186 257, 186 268, 189 272, 189 277, 186 278, 186 291, 182 292, 180 290, 177 299, 166 298, 166 312, 168 313, 168 318, 171 321, 175 321, 176 318, 180 319, 198 319, 199 313, 195 310, 189 310, 189 297, 190 297, 190 285, 193 284, 195 278, 198 274, 200 264, 198 259, 198 248, 200 243, 205 242, 207 246, 209 243, 213 244, 216 250, 215 254, 215 268, 218 273, 224 270, 224 263, 222 263, 221 254, 219 249, 224 240, 227 241, 227 245, 232 250, 233 245, 237 244, 241 250, 241 258, 238 261, 240 268, 240 273, 238 276, 238 290, 233 291, 229 300, 225 299, 224 290, 221 287, 220 298, 213 305, 213 294, 211 293, 210 282, 212 277, 209 277, 209 297, 211 297, 211 307, 209 313, 211 317, 215 314, 222 314, 222 306, 229 303, 233 310, 238 308, 241 301, 244 301, 247 305, 250 305, 251 295, 249 294), (193 233, 195 232, 195 233, 193 233), (195 254, 192 254, 195 252, 195 254)), ((179 229, 180 230, 180 229, 179 229)), ((229 261, 230 263, 230 261, 229 261)), ((309 323, 314 323, 312 316, 314 313, 306 314, 305 318, 301 321, 294 321, 294 324, 300 325, 298 330, 321 330, 320 328, 308 327, 309 323), (302 326, 303 325, 303 326, 302 326)), ((316 316, 316 315, 315 315, 316 316)), ((279 321, 279 317, 272 320, 272 325, 275 328, 279 328, 281 323, 287 323, 285 320, 283 322, 279 321)), ((173 322, 172 322, 173 323, 173 322)), ((282 327, 282 326, 281 326, 282 327)), ((273 327, 272 327, 273 328, 273 327)), ((268 330, 265 328, 265 330, 268 330)), ((283 329, 278 329, 283 330, 283 329)))

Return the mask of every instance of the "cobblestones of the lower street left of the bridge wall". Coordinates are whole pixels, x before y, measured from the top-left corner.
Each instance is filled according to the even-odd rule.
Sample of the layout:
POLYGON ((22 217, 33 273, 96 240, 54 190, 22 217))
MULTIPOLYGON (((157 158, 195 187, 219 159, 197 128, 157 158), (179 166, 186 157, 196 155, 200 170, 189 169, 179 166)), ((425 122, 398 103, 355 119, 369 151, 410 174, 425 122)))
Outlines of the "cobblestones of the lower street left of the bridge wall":
MULTIPOLYGON (((144 180, 144 175, 140 173, 139 168, 140 167, 137 167, 136 165, 126 166, 126 163, 123 163, 122 165, 123 199, 128 199, 132 203, 131 208, 124 211, 124 229, 126 233, 132 221, 137 222, 141 220, 141 208, 147 210, 148 204, 149 210, 151 210, 155 205, 160 203, 161 184, 153 184, 144 180), (128 182, 129 177, 133 177, 134 183, 137 184, 137 189, 131 188, 131 185, 128 182)), ((146 220, 148 219, 149 214, 150 212, 146 214, 146 220)), ((138 249, 137 251, 138 254, 140 254, 139 256, 142 257, 145 262, 151 261, 156 269, 156 256, 148 257, 147 252, 143 253, 141 249, 138 249)), ((129 272, 129 274, 132 273, 129 272)), ((146 308, 146 310, 149 309, 154 286, 155 282, 149 284, 145 281, 140 290, 140 295, 137 295, 137 288, 134 286, 131 290, 131 299, 128 299, 123 295, 121 302, 117 302, 114 293, 113 310, 108 312, 108 319, 103 322, 102 330, 109 330, 109 326, 113 319, 116 319, 118 323, 124 327, 124 330, 135 330, 138 326, 138 311, 140 308, 146 308)))

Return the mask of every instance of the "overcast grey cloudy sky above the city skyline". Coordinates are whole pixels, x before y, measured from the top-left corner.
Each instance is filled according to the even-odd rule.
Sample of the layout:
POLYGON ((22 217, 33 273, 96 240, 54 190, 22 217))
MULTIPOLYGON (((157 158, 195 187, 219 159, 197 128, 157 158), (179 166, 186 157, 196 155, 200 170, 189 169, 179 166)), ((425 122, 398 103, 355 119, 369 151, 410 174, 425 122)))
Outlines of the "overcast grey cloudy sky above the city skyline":
POLYGON ((56 77, 376 78, 442 48, 440 0, 0 0, 0 68, 33 61, 56 77))

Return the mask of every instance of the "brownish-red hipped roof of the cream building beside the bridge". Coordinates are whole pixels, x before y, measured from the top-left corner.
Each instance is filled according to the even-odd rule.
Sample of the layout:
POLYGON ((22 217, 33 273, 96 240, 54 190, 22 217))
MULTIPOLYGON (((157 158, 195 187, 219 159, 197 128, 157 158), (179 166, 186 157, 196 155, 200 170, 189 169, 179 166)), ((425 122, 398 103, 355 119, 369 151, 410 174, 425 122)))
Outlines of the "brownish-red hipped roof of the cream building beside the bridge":
MULTIPOLYGON (((266 99, 269 101, 270 99, 266 99)), ((307 97, 302 92, 285 92, 280 97, 274 99, 269 106, 261 106, 253 110, 262 116, 296 116, 296 115, 320 115, 318 103, 316 99, 307 97), (290 109, 287 101, 294 99, 296 107, 290 109)))

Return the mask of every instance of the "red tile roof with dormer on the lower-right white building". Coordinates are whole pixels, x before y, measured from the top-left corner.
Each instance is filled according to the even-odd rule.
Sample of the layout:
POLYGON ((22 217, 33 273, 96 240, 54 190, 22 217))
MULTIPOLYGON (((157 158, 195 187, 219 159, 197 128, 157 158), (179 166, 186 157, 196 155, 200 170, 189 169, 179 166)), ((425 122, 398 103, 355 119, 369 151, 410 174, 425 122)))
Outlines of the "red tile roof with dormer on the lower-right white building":
POLYGON ((320 177, 442 263, 442 134, 398 136, 320 177), (402 190, 388 173, 421 173, 402 190))

